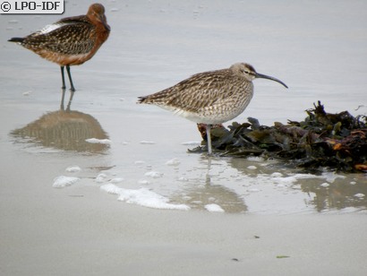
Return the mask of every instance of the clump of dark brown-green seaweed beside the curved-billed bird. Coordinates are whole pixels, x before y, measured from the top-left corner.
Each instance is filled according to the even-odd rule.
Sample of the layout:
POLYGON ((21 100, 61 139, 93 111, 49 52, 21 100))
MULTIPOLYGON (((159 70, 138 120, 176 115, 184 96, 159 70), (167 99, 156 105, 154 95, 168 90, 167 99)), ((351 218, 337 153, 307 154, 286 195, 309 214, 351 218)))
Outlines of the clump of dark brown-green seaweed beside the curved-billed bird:
MULTIPOLYGON (((354 117, 347 111, 330 114, 320 101, 306 112, 304 121, 286 125, 260 125, 252 117, 249 123, 233 123, 229 129, 217 125, 211 132, 213 147, 224 156, 255 155, 288 160, 302 168, 367 171, 366 116, 354 117)), ((205 144, 203 126, 198 127, 205 144)))

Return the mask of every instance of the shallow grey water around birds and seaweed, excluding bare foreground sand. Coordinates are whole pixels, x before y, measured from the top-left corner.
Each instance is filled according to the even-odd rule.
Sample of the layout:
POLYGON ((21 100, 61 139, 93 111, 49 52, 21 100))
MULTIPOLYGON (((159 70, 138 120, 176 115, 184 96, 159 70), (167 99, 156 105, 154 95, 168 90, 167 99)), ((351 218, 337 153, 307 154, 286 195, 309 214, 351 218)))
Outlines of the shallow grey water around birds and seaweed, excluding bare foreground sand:
MULTIPOLYGON (((85 13, 86 5, 68 3, 64 16, 85 13)), ((286 82, 289 90, 276 82, 256 80, 250 106, 235 121, 244 122, 247 116, 263 125, 301 120, 303 110, 317 100, 328 112, 366 114, 367 3, 124 1, 105 5, 111 36, 92 60, 72 68, 77 91, 73 114, 68 116, 58 112, 62 91, 57 65, 6 42, 59 16, 0 16, 4 180, 15 181, 14 174, 20 173, 19 189, 27 179, 38 177, 39 185, 49 189, 55 186, 55 177, 78 177, 74 183, 66 180, 58 196, 78 197, 100 189, 100 197, 111 201, 163 209, 366 210, 365 174, 325 170, 314 176, 275 160, 209 159, 188 153, 201 142, 195 124, 135 102, 138 96, 160 91, 192 73, 249 62, 258 72, 286 82), (16 129, 22 129, 26 139, 14 137, 11 133, 16 129), (105 143, 85 142, 88 138, 105 143), (32 164, 28 166, 26 160, 32 164), (67 171, 71 166, 80 170, 67 171), (44 174, 47 177, 41 177, 44 174)), ((66 91, 65 106, 68 97, 66 91)))

